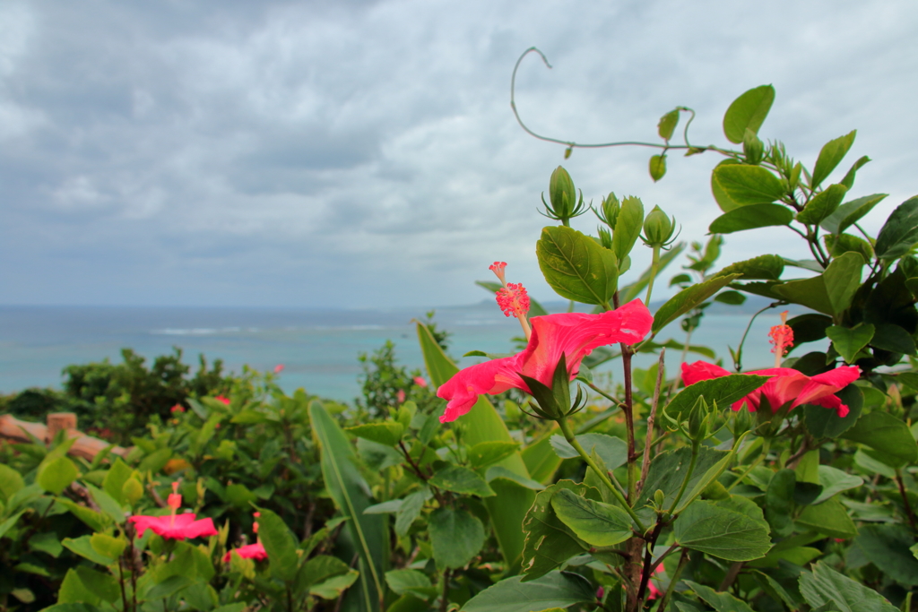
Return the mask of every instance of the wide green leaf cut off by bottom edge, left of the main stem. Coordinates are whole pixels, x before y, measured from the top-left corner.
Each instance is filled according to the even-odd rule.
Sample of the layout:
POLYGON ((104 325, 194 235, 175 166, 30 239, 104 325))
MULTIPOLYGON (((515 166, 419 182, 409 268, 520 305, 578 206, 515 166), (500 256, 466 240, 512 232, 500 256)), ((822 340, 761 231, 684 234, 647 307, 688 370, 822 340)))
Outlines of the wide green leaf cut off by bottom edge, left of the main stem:
POLYGON ((596 589, 577 573, 552 572, 526 584, 521 580, 521 576, 513 576, 487 587, 465 602, 463 612, 531 612, 596 599, 596 589))

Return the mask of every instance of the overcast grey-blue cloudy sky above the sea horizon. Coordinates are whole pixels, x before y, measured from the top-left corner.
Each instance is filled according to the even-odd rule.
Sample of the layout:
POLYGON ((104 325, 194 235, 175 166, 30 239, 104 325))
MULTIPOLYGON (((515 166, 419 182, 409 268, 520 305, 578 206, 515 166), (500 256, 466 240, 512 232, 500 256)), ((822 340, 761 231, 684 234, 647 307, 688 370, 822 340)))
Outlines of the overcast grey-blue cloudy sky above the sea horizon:
MULTIPOLYGON (((536 210, 562 162, 700 239, 721 158, 671 155, 658 184, 645 149, 564 161, 510 113, 531 46, 554 69, 524 61, 517 104, 561 139, 655 141, 685 105, 723 146, 733 98, 773 83, 760 136, 804 163, 858 130, 839 174, 873 159, 852 196, 890 194, 877 229, 918 193, 916 31, 913 0, 3 0, 0 303, 457 305, 495 260, 551 299, 536 210)), ((805 257, 795 238, 728 236, 722 263, 805 257)))

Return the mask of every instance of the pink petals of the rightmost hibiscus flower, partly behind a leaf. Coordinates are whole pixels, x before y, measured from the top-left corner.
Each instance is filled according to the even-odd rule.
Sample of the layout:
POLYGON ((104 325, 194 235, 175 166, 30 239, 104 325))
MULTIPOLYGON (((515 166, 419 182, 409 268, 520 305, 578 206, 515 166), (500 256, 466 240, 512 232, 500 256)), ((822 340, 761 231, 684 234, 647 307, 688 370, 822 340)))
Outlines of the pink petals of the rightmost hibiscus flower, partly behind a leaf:
MULTIPOLYGON (((686 385, 700 381, 720 378, 731 374, 719 365, 708 362, 694 362, 682 364, 682 382, 686 385)), ((733 410, 739 410, 744 405, 749 412, 755 412, 762 402, 762 397, 767 399, 772 412, 778 412, 781 406, 790 404, 789 410, 801 404, 815 404, 833 409, 839 417, 848 414, 848 406, 842 404, 835 394, 854 383, 860 376, 860 368, 856 365, 835 368, 829 372, 807 376, 793 368, 767 368, 756 370, 747 374, 771 376, 768 382, 743 399, 733 402, 733 410)))

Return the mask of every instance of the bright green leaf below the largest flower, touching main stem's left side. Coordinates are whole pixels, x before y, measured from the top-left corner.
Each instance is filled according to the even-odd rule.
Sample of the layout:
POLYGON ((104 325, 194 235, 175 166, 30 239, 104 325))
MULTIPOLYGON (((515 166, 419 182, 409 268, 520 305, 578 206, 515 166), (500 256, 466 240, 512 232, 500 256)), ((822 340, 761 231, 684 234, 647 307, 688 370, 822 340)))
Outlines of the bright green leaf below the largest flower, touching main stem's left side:
POLYGON ((552 507, 561 522, 593 546, 613 546, 632 537, 631 517, 619 506, 562 489, 552 497, 552 507))

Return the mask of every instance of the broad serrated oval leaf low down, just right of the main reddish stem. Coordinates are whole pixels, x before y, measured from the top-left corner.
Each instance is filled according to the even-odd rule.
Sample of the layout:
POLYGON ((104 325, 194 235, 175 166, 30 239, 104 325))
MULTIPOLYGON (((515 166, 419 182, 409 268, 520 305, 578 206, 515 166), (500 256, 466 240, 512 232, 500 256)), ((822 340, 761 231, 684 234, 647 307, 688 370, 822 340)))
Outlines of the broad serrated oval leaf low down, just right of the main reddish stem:
POLYGON ((752 561, 771 548, 768 524, 732 509, 696 501, 673 525, 677 544, 727 561, 752 561))

